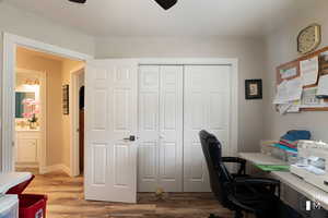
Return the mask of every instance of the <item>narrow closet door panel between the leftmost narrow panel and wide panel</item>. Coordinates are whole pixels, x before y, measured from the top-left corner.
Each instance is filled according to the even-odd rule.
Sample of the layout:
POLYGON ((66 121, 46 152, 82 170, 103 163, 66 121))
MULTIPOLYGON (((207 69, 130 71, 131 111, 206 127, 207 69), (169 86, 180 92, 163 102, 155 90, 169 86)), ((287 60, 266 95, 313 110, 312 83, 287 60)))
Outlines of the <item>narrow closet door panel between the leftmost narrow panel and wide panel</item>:
POLYGON ((181 65, 161 66, 160 187, 183 191, 183 81, 181 65))

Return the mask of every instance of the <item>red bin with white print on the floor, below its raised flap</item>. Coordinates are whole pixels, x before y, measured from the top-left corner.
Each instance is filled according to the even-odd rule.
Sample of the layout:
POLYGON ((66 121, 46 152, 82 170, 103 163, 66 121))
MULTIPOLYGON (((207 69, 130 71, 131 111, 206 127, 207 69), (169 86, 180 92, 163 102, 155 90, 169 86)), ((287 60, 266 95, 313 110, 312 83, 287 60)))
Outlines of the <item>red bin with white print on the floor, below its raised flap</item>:
POLYGON ((47 196, 20 194, 20 218, 45 218, 47 196))

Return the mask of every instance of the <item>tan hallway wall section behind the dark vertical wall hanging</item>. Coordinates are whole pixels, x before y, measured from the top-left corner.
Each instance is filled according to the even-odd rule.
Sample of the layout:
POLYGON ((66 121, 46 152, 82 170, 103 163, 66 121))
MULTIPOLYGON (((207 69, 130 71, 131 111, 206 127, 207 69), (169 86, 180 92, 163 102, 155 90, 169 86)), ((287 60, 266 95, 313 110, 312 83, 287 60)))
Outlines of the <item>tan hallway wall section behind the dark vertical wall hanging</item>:
MULTIPOLYGON (((72 61, 72 60, 65 60, 62 62, 62 71, 61 71, 61 83, 62 85, 70 84, 71 73, 79 68, 83 68, 84 63, 81 61, 72 61)), ((70 85, 71 86, 71 85, 70 85)), ((70 99, 72 100, 72 99, 70 99)), ((62 146, 66 153, 63 154, 63 164, 70 167, 70 133, 71 133, 71 119, 72 111, 70 108, 70 113, 68 116, 62 114, 62 123, 61 123, 61 133, 62 133, 62 146)))

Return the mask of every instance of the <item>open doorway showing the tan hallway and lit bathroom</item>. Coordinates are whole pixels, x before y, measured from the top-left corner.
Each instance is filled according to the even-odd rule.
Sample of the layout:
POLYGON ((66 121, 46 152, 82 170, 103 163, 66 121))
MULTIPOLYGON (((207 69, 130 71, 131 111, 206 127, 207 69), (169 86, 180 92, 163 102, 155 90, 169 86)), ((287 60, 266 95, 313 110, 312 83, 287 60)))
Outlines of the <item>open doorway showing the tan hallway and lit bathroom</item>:
POLYGON ((84 135, 79 111, 83 100, 74 95, 84 86, 84 62, 21 46, 15 53, 15 170, 80 175, 83 158, 79 153, 84 143, 72 138, 79 142, 84 135))

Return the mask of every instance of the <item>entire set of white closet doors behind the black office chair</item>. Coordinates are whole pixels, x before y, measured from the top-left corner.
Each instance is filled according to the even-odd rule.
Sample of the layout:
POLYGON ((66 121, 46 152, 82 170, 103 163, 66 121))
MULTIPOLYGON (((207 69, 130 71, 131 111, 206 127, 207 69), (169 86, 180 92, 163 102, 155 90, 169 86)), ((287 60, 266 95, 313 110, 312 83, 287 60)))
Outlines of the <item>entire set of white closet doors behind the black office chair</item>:
POLYGON ((138 191, 210 192, 198 133, 230 154, 231 65, 142 65, 138 191))

